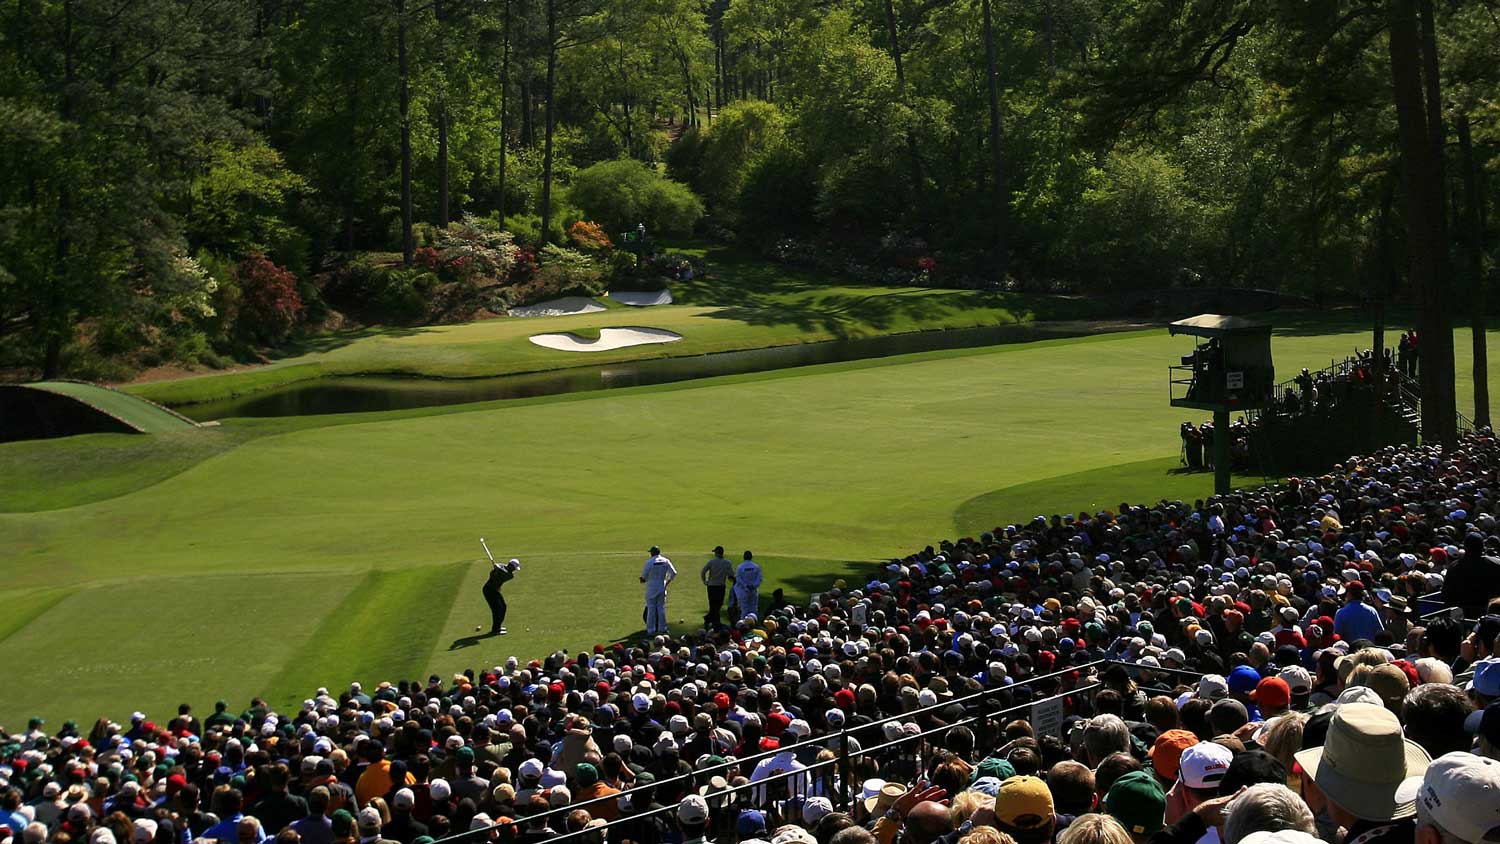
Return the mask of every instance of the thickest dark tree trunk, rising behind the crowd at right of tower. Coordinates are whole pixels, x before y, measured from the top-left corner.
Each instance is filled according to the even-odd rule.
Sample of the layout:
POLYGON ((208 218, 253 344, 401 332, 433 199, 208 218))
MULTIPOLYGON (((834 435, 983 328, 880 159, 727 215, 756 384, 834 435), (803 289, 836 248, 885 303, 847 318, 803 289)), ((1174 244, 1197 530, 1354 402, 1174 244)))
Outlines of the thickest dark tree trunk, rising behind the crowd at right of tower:
MULTIPOLYGON (((1452 445, 1458 439, 1454 396, 1454 331, 1448 313, 1448 234, 1443 204, 1443 150, 1432 145, 1431 114, 1422 84, 1424 48, 1418 0, 1389 0, 1390 78, 1401 135, 1412 286, 1420 307, 1418 342, 1422 385, 1422 438, 1452 445)), ((1431 49, 1436 57, 1436 49, 1431 49)))

